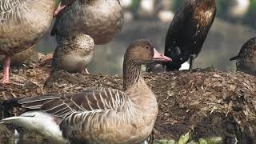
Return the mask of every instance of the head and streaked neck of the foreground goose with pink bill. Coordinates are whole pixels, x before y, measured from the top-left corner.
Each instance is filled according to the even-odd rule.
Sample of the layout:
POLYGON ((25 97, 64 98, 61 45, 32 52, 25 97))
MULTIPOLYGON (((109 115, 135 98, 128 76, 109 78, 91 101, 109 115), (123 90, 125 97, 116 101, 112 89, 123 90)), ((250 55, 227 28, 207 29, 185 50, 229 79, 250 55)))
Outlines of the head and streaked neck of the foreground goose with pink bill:
POLYGON ((126 50, 123 61, 123 90, 128 90, 140 82, 141 66, 151 62, 170 62, 171 58, 160 54, 154 46, 145 39, 136 40, 126 50))

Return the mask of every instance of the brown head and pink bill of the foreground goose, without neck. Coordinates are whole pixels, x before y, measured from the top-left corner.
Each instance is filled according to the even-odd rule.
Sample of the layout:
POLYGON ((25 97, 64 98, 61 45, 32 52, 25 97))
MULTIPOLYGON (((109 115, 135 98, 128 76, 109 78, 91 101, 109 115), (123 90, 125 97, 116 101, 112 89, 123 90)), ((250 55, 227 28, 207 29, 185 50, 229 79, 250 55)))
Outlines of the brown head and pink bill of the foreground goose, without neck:
POLYGON ((151 62, 170 62, 171 58, 160 54, 154 46, 145 39, 136 40, 126 50, 125 59, 147 65, 151 62))

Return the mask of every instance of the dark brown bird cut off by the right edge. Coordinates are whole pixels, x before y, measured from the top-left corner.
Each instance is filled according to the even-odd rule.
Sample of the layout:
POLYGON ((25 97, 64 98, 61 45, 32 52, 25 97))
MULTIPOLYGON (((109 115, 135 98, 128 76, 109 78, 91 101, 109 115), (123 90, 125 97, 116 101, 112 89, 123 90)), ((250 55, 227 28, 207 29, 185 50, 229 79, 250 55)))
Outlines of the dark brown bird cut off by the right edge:
POLYGON ((256 37, 250 38, 241 48, 237 56, 230 58, 236 60, 238 71, 256 76, 256 37))

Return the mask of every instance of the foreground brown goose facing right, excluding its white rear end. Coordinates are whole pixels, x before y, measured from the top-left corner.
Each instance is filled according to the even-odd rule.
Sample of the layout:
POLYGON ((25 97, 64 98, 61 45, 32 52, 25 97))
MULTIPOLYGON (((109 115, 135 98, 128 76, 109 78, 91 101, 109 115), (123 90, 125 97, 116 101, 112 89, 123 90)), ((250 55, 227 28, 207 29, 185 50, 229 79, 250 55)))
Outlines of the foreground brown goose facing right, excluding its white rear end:
MULTIPOLYGON (((71 143, 140 143, 150 135, 158 114, 157 99, 142 77, 141 66, 168 61, 171 59, 155 50, 149 41, 136 40, 124 55, 123 90, 102 88, 39 95, 22 98, 18 103, 62 118, 58 130, 71 143)), ((10 121, 6 118, 1 122, 10 121)))

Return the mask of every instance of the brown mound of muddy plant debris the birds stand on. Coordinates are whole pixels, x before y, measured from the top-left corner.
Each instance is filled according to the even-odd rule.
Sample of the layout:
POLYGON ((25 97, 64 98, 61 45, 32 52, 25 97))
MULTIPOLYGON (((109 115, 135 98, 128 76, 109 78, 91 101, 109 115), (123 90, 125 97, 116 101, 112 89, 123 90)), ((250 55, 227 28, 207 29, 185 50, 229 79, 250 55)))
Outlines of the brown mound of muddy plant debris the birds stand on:
MULTIPOLYGON (((101 87, 122 89, 119 75, 58 72, 48 78, 48 73, 47 66, 34 67, 26 70, 25 74, 12 73, 11 81, 24 85, 0 86, 1 101, 101 87)), ((143 76, 158 96, 159 114, 154 126, 154 138, 177 140, 190 131, 191 138, 196 141, 198 138, 221 137, 224 143, 256 143, 254 76, 212 68, 163 74, 144 73, 143 76)), ((19 114, 16 109, 7 109, 2 106, 2 118, 19 114)))

